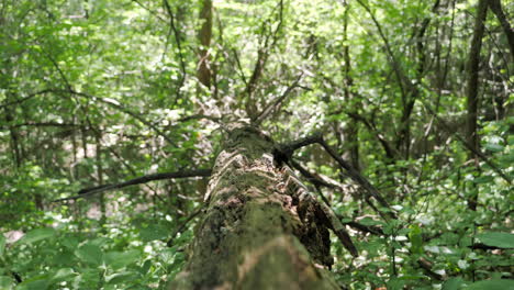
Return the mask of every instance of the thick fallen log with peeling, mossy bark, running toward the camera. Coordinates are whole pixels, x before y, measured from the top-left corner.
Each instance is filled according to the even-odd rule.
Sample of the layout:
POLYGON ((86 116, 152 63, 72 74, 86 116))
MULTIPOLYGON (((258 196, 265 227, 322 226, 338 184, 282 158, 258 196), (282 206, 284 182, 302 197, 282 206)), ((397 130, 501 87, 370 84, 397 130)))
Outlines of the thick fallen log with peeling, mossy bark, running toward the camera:
POLYGON ((317 203, 277 164, 269 137, 231 126, 188 264, 170 289, 339 289, 326 270, 329 233, 317 203))

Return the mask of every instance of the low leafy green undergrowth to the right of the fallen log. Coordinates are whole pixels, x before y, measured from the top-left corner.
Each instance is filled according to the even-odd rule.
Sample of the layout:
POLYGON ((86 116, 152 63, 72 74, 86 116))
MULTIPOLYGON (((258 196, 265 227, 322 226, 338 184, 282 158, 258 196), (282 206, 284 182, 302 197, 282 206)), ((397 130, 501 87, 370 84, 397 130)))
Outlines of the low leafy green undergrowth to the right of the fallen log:
MULTIPOLYGON (((502 170, 512 172, 514 138, 506 144, 483 146, 502 170)), ((429 158, 437 158, 437 153, 429 158)), ((436 169, 429 160, 417 160, 386 169, 377 164, 368 172, 389 170, 391 175, 376 176, 376 182, 387 187, 392 172, 401 172, 402 166, 426 166, 427 176, 422 182, 411 183, 410 191, 394 189, 396 197, 403 197, 391 207, 398 220, 386 222, 372 212, 351 216, 349 209, 357 208, 354 201, 335 203, 336 211, 348 216, 346 222, 358 220, 382 231, 354 232, 361 252, 356 259, 333 241, 339 258, 338 281, 351 289, 514 289, 512 186, 485 164, 478 172, 454 164, 436 169), (477 192, 479 205, 473 211, 467 199, 477 192)), ((405 180, 416 178, 407 176, 405 180)))

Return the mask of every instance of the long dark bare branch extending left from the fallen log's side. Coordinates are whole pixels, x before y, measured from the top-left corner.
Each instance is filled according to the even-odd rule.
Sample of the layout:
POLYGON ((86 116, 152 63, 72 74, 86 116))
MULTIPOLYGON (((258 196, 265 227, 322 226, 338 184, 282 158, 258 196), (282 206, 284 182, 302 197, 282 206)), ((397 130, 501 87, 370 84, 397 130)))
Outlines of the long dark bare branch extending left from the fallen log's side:
POLYGON ((134 179, 131 179, 121 183, 104 185, 104 186, 81 189, 79 190, 78 196, 57 199, 57 200, 54 200, 53 202, 82 199, 82 198, 91 197, 91 196, 94 196, 94 194, 98 194, 108 190, 121 189, 121 188, 125 188, 130 186, 155 181, 155 180, 171 179, 171 178, 189 178, 189 177, 209 177, 211 176, 211 171, 212 171, 211 169, 197 169, 197 170, 183 170, 183 171, 176 171, 176 172, 147 175, 147 176, 134 178, 134 179))

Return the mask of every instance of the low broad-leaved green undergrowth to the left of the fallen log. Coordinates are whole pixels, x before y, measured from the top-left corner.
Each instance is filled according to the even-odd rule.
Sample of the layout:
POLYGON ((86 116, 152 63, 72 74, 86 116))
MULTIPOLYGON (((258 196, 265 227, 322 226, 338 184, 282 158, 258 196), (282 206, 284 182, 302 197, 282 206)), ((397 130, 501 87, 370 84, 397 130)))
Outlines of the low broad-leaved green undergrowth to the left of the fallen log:
POLYGON ((0 235, 0 289, 166 289, 192 234, 183 232, 168 247, 169 223, 136 224, 110 224, 102 234, 63 223, 29 231, 7 247, 0 235))

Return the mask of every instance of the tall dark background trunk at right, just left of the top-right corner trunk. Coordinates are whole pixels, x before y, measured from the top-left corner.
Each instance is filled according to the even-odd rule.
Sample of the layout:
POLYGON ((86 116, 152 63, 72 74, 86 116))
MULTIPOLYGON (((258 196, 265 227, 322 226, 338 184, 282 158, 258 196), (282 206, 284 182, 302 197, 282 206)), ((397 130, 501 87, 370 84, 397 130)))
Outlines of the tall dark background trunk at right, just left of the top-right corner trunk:
MULTIPOLYGON (((471 47, 469 49, 468 65, 467 65, 467 83, 466 83, 466 104, 467 104, 467 120, 466 120, 466 137, 471 147, 479 152, 479 137, 478 137, 478 103, 479 103, 479 70, 480 70, 480 49, 482 47, 482 37, 484 32, 485 16, 488 13, 488 0, 480 0, 477 8, 477 16, 474 19, 473 37, 471 40, 471 47)), ((470 158, 478 161, 474 154, 470 154, 470 158)), ((474 190, 476 191, 476 190, 474 190)), ((477 209, 478 193, 473 193, 468 200, 468 207, 471 210, 477 209)))

